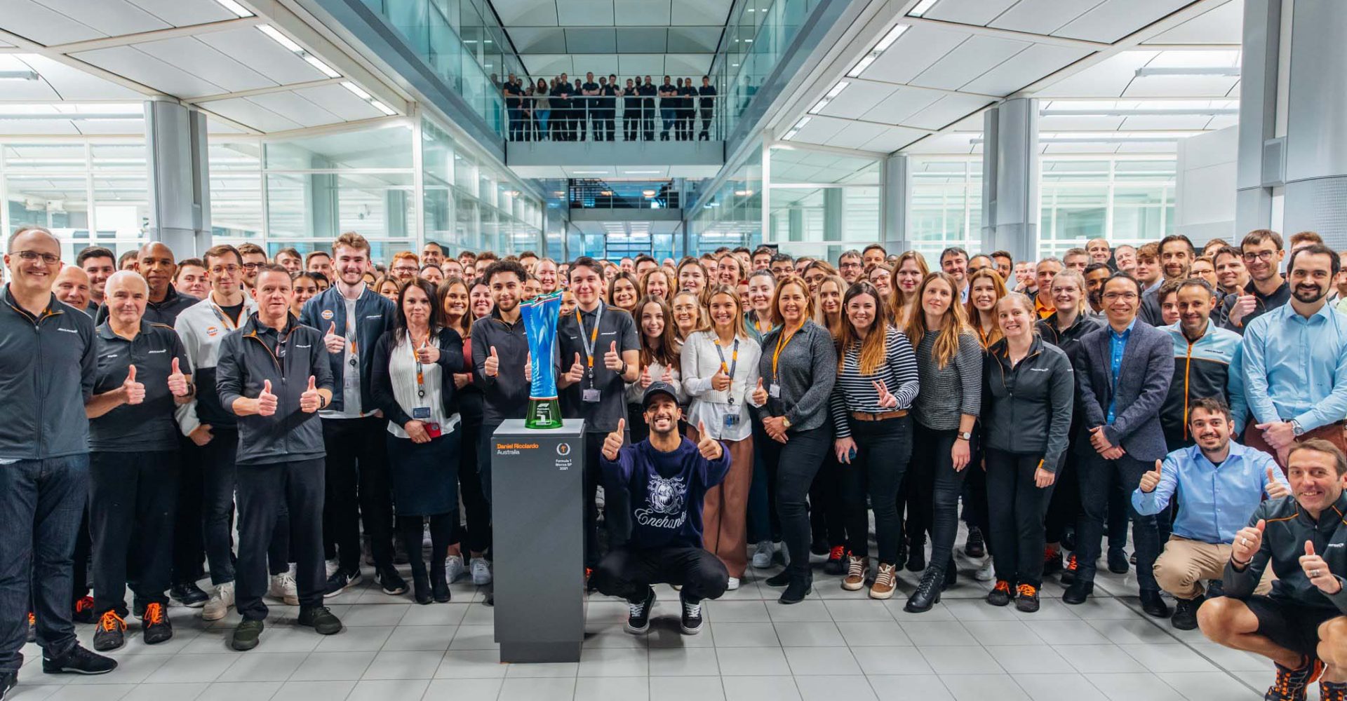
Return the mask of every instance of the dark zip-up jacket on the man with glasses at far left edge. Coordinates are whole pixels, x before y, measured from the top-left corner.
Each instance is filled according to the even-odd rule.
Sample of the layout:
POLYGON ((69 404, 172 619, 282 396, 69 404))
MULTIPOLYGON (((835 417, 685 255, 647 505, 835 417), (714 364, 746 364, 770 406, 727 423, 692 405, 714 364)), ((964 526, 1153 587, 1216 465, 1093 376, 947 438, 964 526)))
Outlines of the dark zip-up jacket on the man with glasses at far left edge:
POLYGON ((97 353, 89 315, 53 295, 34 318, 0 288, 0 460, 89 452, 97 353))

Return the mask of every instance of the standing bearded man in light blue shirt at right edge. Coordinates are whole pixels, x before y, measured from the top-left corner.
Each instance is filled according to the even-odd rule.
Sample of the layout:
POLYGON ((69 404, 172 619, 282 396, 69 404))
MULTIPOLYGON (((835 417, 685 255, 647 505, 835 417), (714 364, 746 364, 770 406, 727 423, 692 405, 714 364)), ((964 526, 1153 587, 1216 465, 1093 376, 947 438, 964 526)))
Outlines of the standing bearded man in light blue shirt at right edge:
POLYGON ((1347 316, 1325 299, 1339 268, 1338 253, 1323 244, 1297 250, 1288 265, 1290 303, 1245 328, 1245 390, 1254 414, 1245 443, 1276 453, 1278 464, 1301 440, 1347 447, 1347 316))

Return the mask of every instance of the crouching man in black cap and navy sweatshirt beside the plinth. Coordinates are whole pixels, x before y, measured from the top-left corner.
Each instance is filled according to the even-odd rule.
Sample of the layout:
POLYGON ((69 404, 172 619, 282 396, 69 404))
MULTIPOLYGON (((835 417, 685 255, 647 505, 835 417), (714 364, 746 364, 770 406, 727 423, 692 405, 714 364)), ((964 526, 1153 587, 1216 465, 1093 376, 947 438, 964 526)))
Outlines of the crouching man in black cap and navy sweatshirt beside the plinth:
POLYGON ((652 382, 641 405, 651 428, 648 439, 622 445, 625 420, 603 439, 599 464, 607 490, 624 491, 630 505, 632 537, 598 564, 599 592, 626 599, 626 631, 641 635, 651 626, 652 584, 682 591, 682 630, 702 631, 702 601, 725 593, 730 575, 718 557, 702 548, 702 502, 725 479, 730 452, 698 424, 699 443, 680 436, 683 417, 674 388, 652 382))

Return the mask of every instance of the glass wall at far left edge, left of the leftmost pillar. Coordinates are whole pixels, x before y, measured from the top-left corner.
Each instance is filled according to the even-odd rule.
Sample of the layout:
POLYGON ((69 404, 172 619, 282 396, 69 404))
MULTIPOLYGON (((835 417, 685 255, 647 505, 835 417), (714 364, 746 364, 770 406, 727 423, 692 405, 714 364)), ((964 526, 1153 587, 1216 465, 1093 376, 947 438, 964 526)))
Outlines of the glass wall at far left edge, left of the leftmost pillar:
POLYGON ((143 136, 0 137, 0 230, 51 229, 66 261, 90 245, 133 250, 150 221, 145 164, 143 136))

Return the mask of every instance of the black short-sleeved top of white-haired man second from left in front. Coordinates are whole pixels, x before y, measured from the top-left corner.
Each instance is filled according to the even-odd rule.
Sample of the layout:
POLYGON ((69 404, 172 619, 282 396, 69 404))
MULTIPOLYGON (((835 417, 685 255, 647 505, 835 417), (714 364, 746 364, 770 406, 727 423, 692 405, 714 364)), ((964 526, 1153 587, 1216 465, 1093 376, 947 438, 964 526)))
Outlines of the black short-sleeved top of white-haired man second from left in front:
POLYGON ((96 334, 98 371, 93 393, 105 394, 127 381, 128 366, 136 366, 136 382, 145 386, 145 401, 123 404, 89 421, 89 449, 97 452, 158 452, 178 449, 178 424, 174 421, 172 393, 168 374, 172 359, 178 369, 191 374, 187 348, 171 326, 140 320, 136 338, 127 340, 104 322, 96 334))

